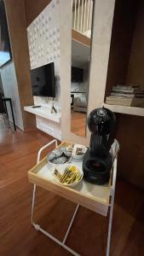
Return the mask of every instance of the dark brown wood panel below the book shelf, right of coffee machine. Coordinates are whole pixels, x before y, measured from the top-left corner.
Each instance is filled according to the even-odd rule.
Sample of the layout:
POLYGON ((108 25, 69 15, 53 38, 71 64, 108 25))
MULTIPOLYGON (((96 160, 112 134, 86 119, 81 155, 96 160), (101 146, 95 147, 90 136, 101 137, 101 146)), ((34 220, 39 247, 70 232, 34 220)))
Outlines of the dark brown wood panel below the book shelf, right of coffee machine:
POLYGON ((144 189, 144 118, 118 114, 118 176, 144 189))

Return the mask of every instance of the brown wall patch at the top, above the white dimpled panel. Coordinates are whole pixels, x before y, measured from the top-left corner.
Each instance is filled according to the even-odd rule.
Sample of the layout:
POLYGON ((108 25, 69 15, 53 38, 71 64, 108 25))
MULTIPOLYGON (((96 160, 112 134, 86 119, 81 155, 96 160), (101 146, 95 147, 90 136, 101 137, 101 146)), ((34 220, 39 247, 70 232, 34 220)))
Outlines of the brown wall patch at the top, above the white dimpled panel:
POLYGON ((39 15, 51 0, 25 0, 26 5, 26 26, 39 15))

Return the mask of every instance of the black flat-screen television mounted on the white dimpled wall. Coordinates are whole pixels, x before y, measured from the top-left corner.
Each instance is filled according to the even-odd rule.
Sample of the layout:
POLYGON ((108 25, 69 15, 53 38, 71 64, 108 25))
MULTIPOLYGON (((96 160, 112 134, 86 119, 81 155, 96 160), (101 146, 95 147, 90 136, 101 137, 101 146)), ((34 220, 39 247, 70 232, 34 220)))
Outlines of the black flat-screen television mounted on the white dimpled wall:
POLYGON ((54 62, 31 70, 33 96, 55 97, 54 62))

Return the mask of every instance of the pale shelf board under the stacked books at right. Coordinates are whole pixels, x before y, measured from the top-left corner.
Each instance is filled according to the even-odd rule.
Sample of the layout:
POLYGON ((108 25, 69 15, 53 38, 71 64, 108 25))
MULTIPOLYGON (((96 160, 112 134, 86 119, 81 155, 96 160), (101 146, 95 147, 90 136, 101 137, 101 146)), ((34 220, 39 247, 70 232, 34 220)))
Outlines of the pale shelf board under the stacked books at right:
POLYGON ((105 103, 104 103, 104 107, 109 108, 115 113, 127 113, 127 114, 133 114, 138 116, 144 116, 144 108, 110 105, 105 103))

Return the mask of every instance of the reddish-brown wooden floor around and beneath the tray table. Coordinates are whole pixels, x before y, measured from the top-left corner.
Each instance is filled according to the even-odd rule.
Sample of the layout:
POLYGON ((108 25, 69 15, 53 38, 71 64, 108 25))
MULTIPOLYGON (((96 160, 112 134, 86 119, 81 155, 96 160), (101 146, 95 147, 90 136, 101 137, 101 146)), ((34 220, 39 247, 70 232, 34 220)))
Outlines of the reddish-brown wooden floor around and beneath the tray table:
MULTIPOLYGON (((70 255, 30 224, 32 184, 27 171, 36 163, 37 150, 52 138, 40 131, 14 134, 0 132, 0 255, 70 255)), ((76 205, 57 195, 37 190, 35 218, 62 239, 76 205)), ((84 207, 67 240, 83 256, 103 256, 107 240, 107 218, 84 207)), ((144 194, 118 181, 112 225, 111 256, 144 255, 144 194)))

